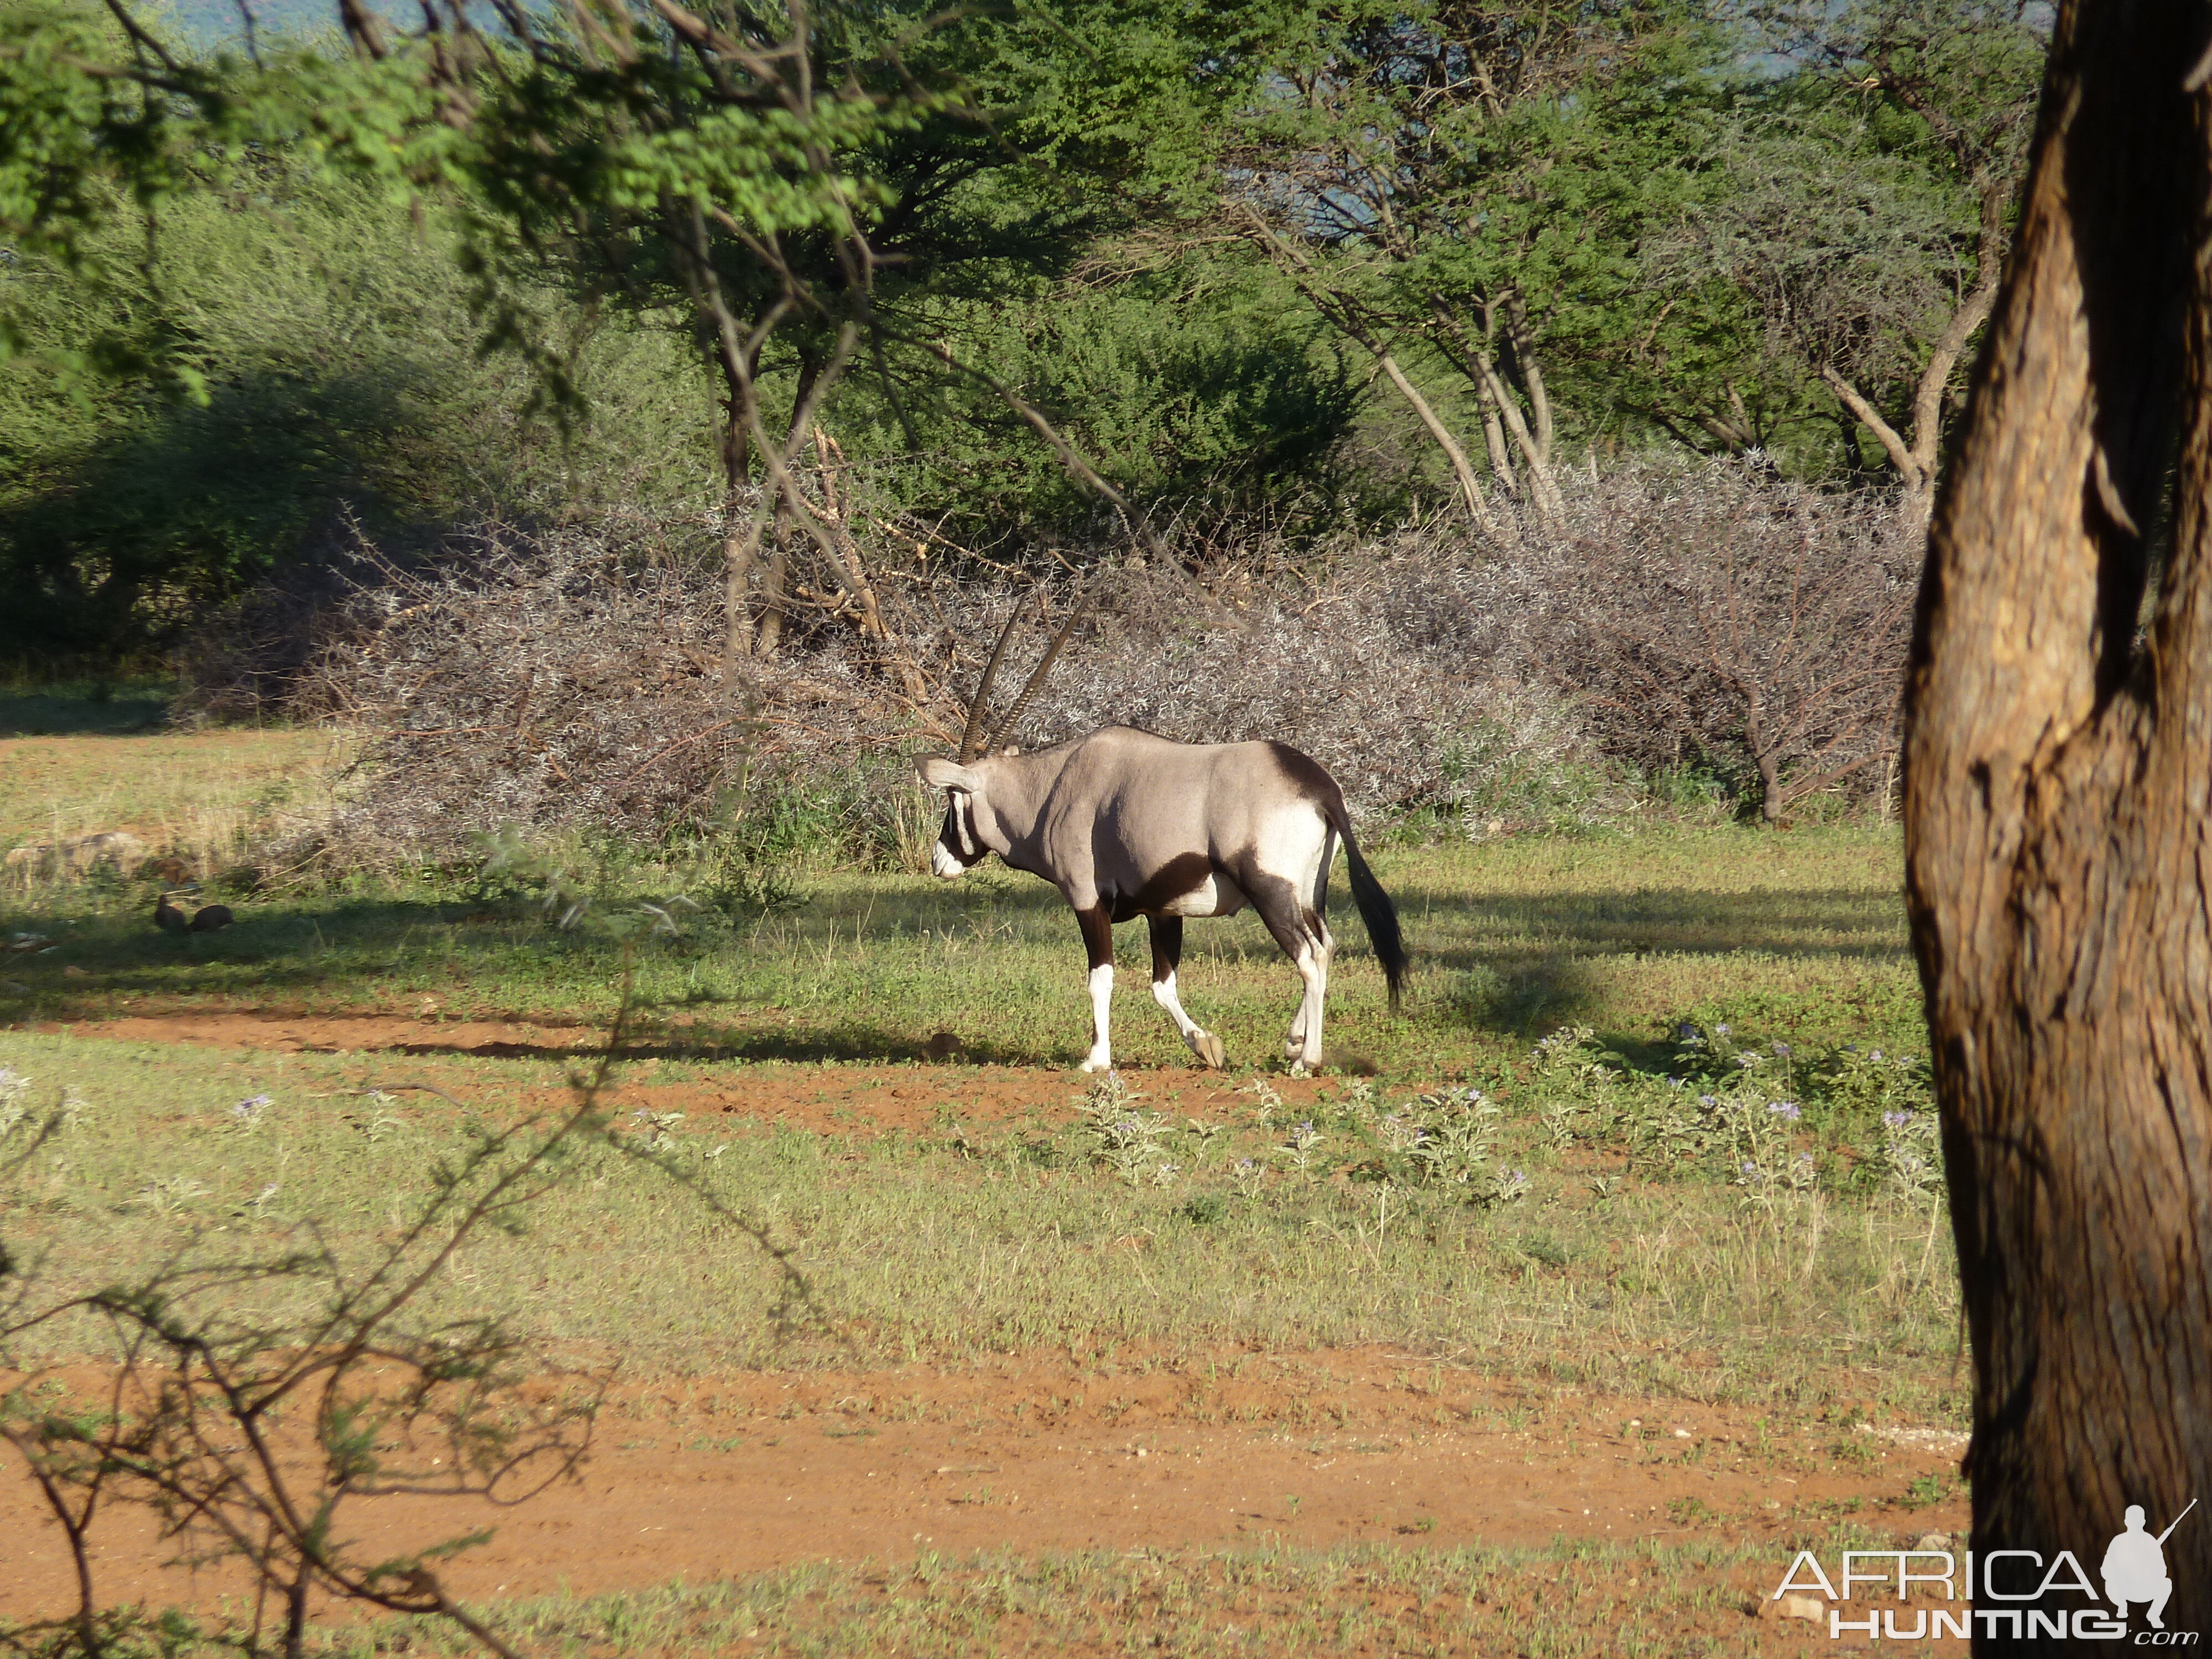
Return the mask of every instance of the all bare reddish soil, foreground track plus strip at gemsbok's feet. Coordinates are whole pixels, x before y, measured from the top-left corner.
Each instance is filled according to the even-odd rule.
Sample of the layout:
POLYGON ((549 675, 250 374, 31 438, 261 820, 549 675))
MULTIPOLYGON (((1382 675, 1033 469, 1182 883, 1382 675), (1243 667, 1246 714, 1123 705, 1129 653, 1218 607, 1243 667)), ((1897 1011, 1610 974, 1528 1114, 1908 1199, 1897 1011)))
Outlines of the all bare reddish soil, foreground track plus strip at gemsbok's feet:
MULTIPOLYGON (((358 1064, 363 1086, 456 1073, 456 1091, 480 1093, 484 1073, 467 1062, 538 1062, 520 1064, 513 1086, 546 1097, 562 1088, 566 1066, 591 1060, 604 1042, 604 1031, 586 1024, 237 1006, 139 1009, 46 1031, 347 1055, 343 1068, 352 1077, 358 1064), (458 1077, 465 1068, 469 1079, 458 1077)), ((611 1104, 843 1137, 942 1135, 953 1124, 1064 1117, 1086 1084, 1073 1071, 953 1062, 699 1064, 708 1035, 686 1026, 641 1033, 611 1104)), ((1210 1117, 1250 1102, 1232 1079, 1197 1068, 1139 1071, 1135 1082, 1179 1115, 1210 1117)), ((1270 1082, 1292 1104, 1343 1086, 1340 1077, 1270 1082)), ((1141 1248, 1124 1243, 1133 1254, 1141 1248)), ((653 1263, 637 1270, 653 1272, 653 1263)), ((1599 1396, 1484 1378, 1396 1349, 1053 1349, 978 1365, 637 1383, 602 1418, 580 1480, 520 1502, 356 1500, 341 1531, 363 1557, 387 1557, 493 1528, 487 1546, 445 1571, 449 1586, 478 1604, 641 1593, 816 1562, 854 1568, 863 1588, 876 1586, 867 1595, 891 1597, 898 1568, 975 1553, 1172 1557, 1203 1577, 1208 1553, 1276 1544, 1542 1551, 1562 1542, 1710 1542, 1747 1548, 1754 1566, 1728 1568, 1714 1599, 1681 1610, 1694 1626, 1681 1632, 1686 1641, 1827 1650, 1825 1626, 1776 1621, 1765 1599, 1794 1548, 1845 1520, 1891 1544, 1931 1531, 1964 1535, 1960 1451, 1962 1436, 1944 1429, 1599 1396), (1951 1495, 1920 1502, 1929 1491, 1951 1495)), ((232 1573, 161 1566, 177 1548, 128 1511, 102 1522, 95 1546, 102 1593, 115 1601, 212 1613, 226 1595, 239 1606, 246 1588, 232 1573)), ((1606 1571, 1604 1590, 1619 1606, 1650 1595, 1635 1566, 1606 1571)), ((0 1619, 55 1615, 71 1588, 60 1535, 35 1491, 0 1482, 0 1619)), ((1533 1597, 1528 1617, 1544 1613, 1542 1586, 1500 1593, 1533 1597)), ((1374 1604, 1394 1595, 1380 1586, 1374 1604)), ((1279 1613, 1285 1630, 1305 1617, 1290 1601, 1279 1613)), ((1106 1615, 1135 1617, 1119 1599, 1106 1615)), ((1672 1613, 1663 1617, 1672 1621, 1672 1613)), ((1018 1632, 1002 1635, 1013 1641, 1018 1632)), ((1944 1641, 1933 1650, 1958 1648, 1944 1641)))

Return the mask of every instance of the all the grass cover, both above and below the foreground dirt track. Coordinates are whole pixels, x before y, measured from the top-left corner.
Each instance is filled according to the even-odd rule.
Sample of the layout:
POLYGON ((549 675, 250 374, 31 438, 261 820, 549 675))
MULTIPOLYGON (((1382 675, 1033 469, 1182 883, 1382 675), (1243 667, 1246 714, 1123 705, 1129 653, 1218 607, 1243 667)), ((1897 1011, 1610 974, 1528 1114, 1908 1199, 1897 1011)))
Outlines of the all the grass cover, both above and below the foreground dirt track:
MULTIPOLYGON (((288 743, 301 754, 327 743, 232 739, 241 748, 204 783, 246 812, 285 787, 283 774, 252 783, 246 768, 288 743)), ((86 801, 179 787, 175 757, 157 757, 177 739, 20 739, 0 743, 0 761, 42 741, 93 768, 93 783, 51 790, 55 823, 77 810, 71 830, 93 827, 86 801), (100 772, 71 743, 117 759, 100 772), (84 794, 93 785, 111 794, 84 794)), ((1086 1117, 1084 1079, 1040 1071, 1086 1046, 1084 964, 1060 898, 1009 872, 958 885, 816 872, 799 878, 794 907, 684 914, 675 938, 648 936, 641 905, 672 894, 710 905, 703 867, 582 860, 586 876, 560 883, 418 872, 312 891, 232 887, 237 927, 192 938, 150 927, 150 887, 40 887, 0 900, 0 931, 55 945, 0 958, 0 1068, 33 1079, 0 1084, 0 1161, 40 1110, 66 1106, 69 1124, 0 1186, 0 1237, 40 1301, 177 1261, 265 1261, 307 1228, 343 1261, 369 1261, 436 1170, 462 1157, 473 1119, 513 1121, 564 1095, 560 1033, 604 1026, 628 971, 637 1053, 657 1060, 653 1097, 692 1091, 690 1117, 617 1113, 633 1152, 655 1137, 661 1150, 577 1148, 529 1230, 471 1241, 409 1321, 493 1314, 564 1360, 619 1360, 633 1378, 960 1369, 1060 1349, 1093 1396, 1068 1409, 1088 1411, 1108 1409, 1133 1371, 1197 1376, 1252 1349, 1387 1343, 1537 1387, 1960 1422, 1949 1230, 1940 1208, 1882 1177, 1876 1124, 1891 1073, 1869 1084, 1860 1066, 1874 1046, 1924 1044, 1898 863, 1896 834, 1869 825, 1383 849, 1413 993, 1391 1018, 1338 887, 1338 1068, 1296 1091, 1296 1106, 1270 1102, 1294 973, 1250 916, 1190 929, 1186 1004, 1232 1053, 1230 1077, 1203 1091, 1203 1126, 1183 1108, 1152 1119, 1168 1091, 1192 1097, 1194 1073, 1146 993, 1141 927, 1121 931, 1117 1053, 1124 1088, 1144 1097, 1102 1097, 1086 1117), (549 918, 555 885, 564 907, 591 898, 568 929, 549 918), (551 1053, 504 1060, 100 1035, 108 1015, 173 1011, 405 1015, 394 1037, 431 1048, 458 1018, 557 1033, 542 1044, 551 1053), (1721 1075, 1668 1086, 1666 1073, 1697 1068, 1670 1042, 1681 1020, 1798 1051, 1761 1060, 1759 1084, 1774 1075, 1803 1117, 1761 1128, 1759 1157, 1781 1168, 1814 1152, 1816 1181, 1787 1192, 1741 1181, 1734 1130, 1677 1121, 1721 1075), (73 1029, 31 1029, 46 1022, 73 1029), (1535 1053, 1562 1026, 1590 1037, 1535 1053), (1026 1121, 962 1121, 962 1088, 984 1097, 1006 1077, 962 1064, 927 1073, 929 1093, 951 1099, 927 1133, 807 1133, 728 1110, 796 1099, 805 1079, 834 1093, 838 1066, 911 1062, 938 1031, 960 1035, 967 1060, 1031 1068, 1044 1104, 1026 1121), (403 1088, 411 1082, 445 1093, 403 1088), (1409 1097, 1449 1082, 1478 1084, 1500 1108, 1469 1141, 1464 1181, 1425 1179, 1389 1121, 1444 1121, 1447 1108, 1409 1097), (237 1113, 261 1095, 263 1108, 237 1113), (1307 1130, 1292 1121, 1307 1117, 1307 1130), (1307 1135, 1318 1139, 1298 1152, 1307 1135), (776 1272, 686 1181, 790 1248, 807 1318, 779 1323, 776 1272)), ((1741 1104, 1765 1126, 1765 1091, 1743 1082, 1741 1104)), ((232 1279, 221 1310, 199 1312, 281 1323, 310 1294, 296 1279, 232 1279)), ((11 1358, 66 1360, 106 1340, 93 1323, 55 1321, 11 1358)), ((876 1409, 891 1402, 860 1402, 856 1427, 876 1409)), ((1172 1411, 1206 1425, 1221 1407, 1192 1387, 1172 1411)), ((498 1619, 526 1650, 611 1657, 1761 1652, 1770 1632, 1745 1606, 1783 1562, 1741 1542, 922 1555, 509 1604, 498 1619)), ((374 1624, 319 1628, 314 1644, 365 1659, 449 1639, 374 1624)))

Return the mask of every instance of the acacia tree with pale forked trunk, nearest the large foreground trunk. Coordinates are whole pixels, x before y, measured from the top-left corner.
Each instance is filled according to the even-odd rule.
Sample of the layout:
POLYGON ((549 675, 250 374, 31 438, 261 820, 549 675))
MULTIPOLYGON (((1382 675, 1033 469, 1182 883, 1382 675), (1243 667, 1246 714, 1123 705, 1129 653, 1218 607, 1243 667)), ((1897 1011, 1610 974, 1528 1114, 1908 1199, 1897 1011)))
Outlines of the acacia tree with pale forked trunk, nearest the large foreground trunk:
POLYGON ((1763 27, 1798 69, 1650 257, 1683 292, 1717 274, 1750 299, 1765 354, 1834 396, 1849 453, 1854 427, 1874 438, 1918 531, 1997 296, 2044 38, 2004 0, 1783 4, 1763 27))

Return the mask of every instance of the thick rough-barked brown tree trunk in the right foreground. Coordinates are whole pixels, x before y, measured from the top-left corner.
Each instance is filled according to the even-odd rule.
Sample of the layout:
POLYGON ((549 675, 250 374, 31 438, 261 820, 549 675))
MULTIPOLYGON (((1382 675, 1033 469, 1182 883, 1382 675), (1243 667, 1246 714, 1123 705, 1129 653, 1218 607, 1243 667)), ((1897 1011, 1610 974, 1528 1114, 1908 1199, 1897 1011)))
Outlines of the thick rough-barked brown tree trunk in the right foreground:
MULTIPOLYGON (((2093 1584, 2130 1504, 2157 1535, 2212 1500, 2212 144, 2188 71, 2208 35, 2205 0, 2059 11, 1907 681, 1973 1548, 2073 1551, 2093 1584)), ((2002 1588, 2033 1588, 2008 1566, 2002 1588)), ((2212 1628, 2203 1509, 2166 1575, 2166 1628, 2212 1628)), ((2044 1646, 2066 1644, 1975 1635, 2044 1646)))

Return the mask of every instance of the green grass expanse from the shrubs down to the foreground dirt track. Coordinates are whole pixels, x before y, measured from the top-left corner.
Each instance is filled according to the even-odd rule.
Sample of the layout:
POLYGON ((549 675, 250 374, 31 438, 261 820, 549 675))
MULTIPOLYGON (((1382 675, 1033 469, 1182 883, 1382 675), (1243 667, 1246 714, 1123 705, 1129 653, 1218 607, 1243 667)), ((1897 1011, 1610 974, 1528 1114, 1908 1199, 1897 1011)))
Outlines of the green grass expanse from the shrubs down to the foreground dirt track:
MULTIPOLYGON (((1062 1108, 998 1130, 854 1141, 695 1117, 672 1146, 796 1245, 827 1334, 776 1349, 776 1290, 759 1256, 622 1159, 549 1197, 531 1239, 473 1245, 467 1281, 440 1294, 672 1369, 1042 1343, 1389 1340, 1597 1387, 1745 1400, 1843 1389, 1887 1394, 1916 1416, 1951 1407, 1949 1237, 1924 1206, 1869 1197, 1880 1102, 1807 1095, 1798 1139, 1770 1150, 1818 1150, 1820 1181, 1778 1199, 1730 1183, 1734 1141, 1708 1135, 1688 1152, 1661 1133, 1668 1099, 1686 1097, 1657 1075, 1593 1082, 1531 1062, 1531 1040, 1566 1022, 1595 1029, 1588 1053, 1650 1073, 1677 1064, 1666 1037, 1683 1018, 1801 1053, 1922 1046, 1893 832, 1652 832, 1394 852, 1378 865, 1413 940, 1413 995, 1391 1018, 1365 942, 1347 940, 1329 1048, 1380 1075, 1325 1082, 1298 1108, 1323 1135, 1303 1175, 1287 1117, 1259 1121, 1252 1093, 1281 1068, 1294 975, 1243 916, 1190 929, 1186 1004, 1225 1033, 1223 1082, 1243 1093, 1212 1137, 1159 1130, 1159 1161, 1179 1166, 1168 1186, 1150 1186, 1150 1164, 1130 1183, 1093 1159, 1071 1121, 1075 1077, 1062 1108), (1447 1079, 1480 1082, 1504 1104, 1482 1179, 1458 1192, 1380 1155, 1380 1115, 1447 1079), (714 1141, 728 1146, 708 1161, 714 1141), (1261 1175, 1239 1179, 1243 1159, 1261 1175), (1504 1168, 1526 1170, 1520 1201, 1464 1201, 1504 1168), (1391 1181, 1365 1179, 1378 1170, 1391 1181)), ((595 880, 568 931, 533 887, 469 891, 462 878, 248 896, 237 927, 190 938, 157 933, 131 885, 40 894, 7 927, 51 931, 58 949, 0 962, 0 1015, 88 1024, 73 1037, 0 1033, 0 1064, 42 1091, 75 1088, 84 1113, 55 1170, 22 1188, 11 1234, 44 1248, 64 1279, 142 1267, 188 1237, 276 1248, 310 1217, 369 1250, 403 1194, 456 1150, 453 1108, 363 1097, 372 1082, 418 1075, 407 1062, 131 1048, 93 1040, 106 1013, 398 1011, 427 1042, 436 1022, 469 1015, 588 1031, 611 1018, 635 960, 655 1086, 770 1062, 763 1082, 787 1088, 794 1064, 911 1060, 942 1029, 969 1060, 1018 1066, 1066 1066, 1086 1044, 1075 927, 1026 876, 821 876, 792 911, 737 922, 701 911, 677 938, 644 942, 639 900, 699 889, 697 878, 630 867, 595 880), (232 1128, 230 1106, 257 1093, 276 1102, 268 1121, 232 1128), (257 1199, 272 1183, 276 1194, 257 1199)), ((1354 940, 1356 927, 1340 920, 1354 940)), ((1124 951, 1141 949, 1141 929, 1124 929, 1124 951)), ((1128 1084, 1155 1091, 1148 1064, 1192 1073, 1144 991, 1141 956, 1130 967, 1117 1053, 1135 1064, 1128 1084)), ((960 1077, 975 1073, 929 1073, 953 1093, 960 1077)), ((436 1079, 507 1119, 544 1104, 557 1064, 447 1057, 436 1079)))

